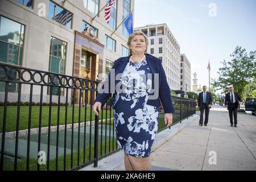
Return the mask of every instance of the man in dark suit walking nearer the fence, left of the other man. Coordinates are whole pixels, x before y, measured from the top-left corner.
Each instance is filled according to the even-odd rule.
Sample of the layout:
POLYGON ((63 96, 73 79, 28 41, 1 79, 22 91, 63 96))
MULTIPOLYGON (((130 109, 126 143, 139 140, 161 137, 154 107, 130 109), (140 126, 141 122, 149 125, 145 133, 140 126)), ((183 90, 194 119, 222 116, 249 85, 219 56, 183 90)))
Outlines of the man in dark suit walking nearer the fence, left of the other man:
POLYGON ((210 107, 212 107, 212 94, 210 92, 207 92, 207 86, 203 86, 203 92, 199 93, 198 106, 200 109, 199 126, 203 126, 204 111, 204 126, 207 126, 210 107))

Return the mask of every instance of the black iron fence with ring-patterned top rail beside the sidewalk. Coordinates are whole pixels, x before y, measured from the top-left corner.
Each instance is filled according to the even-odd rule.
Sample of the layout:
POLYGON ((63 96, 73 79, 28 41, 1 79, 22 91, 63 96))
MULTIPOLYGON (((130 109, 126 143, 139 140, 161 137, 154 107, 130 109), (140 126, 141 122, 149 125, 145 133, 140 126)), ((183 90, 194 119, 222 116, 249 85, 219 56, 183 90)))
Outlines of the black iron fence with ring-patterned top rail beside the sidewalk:
MULTIPOLYGON (((0 63, 0 171, 74 170, 119 151, 113 110, 97 117, 97 81, 0 63)), ((110 98, 111 99, 111 98, 110 98)), ((172 97, 174 123, 196 113, 195 100, 172 97)), ((159 111, 159 131, 164 130, 159 111)))

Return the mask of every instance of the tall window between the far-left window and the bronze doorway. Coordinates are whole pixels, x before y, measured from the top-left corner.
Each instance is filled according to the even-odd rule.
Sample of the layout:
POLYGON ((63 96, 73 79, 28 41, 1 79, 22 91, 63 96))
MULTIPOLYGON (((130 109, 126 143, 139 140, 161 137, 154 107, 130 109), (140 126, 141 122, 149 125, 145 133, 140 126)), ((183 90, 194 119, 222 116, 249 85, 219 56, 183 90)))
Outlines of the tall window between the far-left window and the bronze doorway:
MULTIPOLYGON (((49 51, 49 72, 65 75, 65 65, 66 65, 66 59, 67 59, 66 55, 67 55, 67 43, 62 40, 51 37, 51 44, 50 44, 50 51, 49 51)), ((49 94, 49 90, 48 90, 48 94, 49 94)), ((58 95, 59 88, 53 87, 52 94, 58 95)), ((61 96, 64 96, 63 88, 61 88, 61 96)))

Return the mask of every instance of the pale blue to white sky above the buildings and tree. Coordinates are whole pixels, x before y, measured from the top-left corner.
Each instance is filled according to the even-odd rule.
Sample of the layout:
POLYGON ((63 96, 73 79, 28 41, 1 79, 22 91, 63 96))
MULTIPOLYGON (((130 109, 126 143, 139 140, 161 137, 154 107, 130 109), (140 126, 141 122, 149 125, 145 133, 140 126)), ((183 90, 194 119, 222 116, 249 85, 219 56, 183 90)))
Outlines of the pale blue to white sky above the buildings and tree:
POLYGON ((203 87, 209 61, 210 77, 218 78, 221 61, 231 60, 236 46, 256 50, 255 9, 256 0, 135 0, 134 27, 166 23, 203 87))

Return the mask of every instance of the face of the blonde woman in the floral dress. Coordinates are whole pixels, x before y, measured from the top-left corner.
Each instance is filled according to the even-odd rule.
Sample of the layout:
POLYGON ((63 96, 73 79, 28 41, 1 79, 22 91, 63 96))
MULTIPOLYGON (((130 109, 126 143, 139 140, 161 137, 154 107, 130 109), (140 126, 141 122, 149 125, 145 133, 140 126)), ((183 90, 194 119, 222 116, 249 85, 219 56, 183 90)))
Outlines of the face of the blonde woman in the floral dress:
POLYGON ((136 54, 144 54, 146 51, 146 41, 143 35, 135 35, 133 39, 131 39, 131 52, 136 54))

